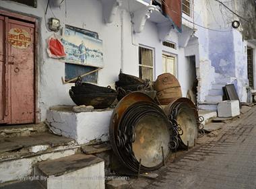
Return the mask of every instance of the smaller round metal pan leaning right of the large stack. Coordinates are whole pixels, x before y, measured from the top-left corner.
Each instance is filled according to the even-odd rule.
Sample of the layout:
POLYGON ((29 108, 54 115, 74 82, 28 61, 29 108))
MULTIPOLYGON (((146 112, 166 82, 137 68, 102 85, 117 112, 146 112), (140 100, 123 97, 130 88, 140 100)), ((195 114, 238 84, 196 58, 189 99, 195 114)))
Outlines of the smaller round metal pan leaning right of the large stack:
POLYGON ((198 112, 195 104, 188 98, 172 98, 164 111, 169 119, 174 117, 183 130, 183 134, 179 135, 179 146, 187 147, 187 142, 189 142, 189 147, 193 147, 197 140, 199 128, 198 112))

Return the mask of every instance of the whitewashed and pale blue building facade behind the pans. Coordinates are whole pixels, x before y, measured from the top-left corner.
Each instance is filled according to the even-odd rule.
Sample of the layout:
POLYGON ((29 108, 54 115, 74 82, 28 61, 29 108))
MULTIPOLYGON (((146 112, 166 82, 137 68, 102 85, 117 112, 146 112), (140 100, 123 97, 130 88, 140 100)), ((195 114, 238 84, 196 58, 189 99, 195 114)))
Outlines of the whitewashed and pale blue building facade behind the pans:
MULTIPOLYGON (((50 58, 46 52, 49 37, 53 34, 61 36, 67 25, 96 32, 102 40, 104 66, 96 75, 98 85, 114 86, 120 69, 123 73, 153 81, 158 75, 170 72, 179 79, 184 97, 196 89, 199 108, 216 109, 216 104, 222 101, 222 86, 226 83, 234 83, 241 102, 247 102, 249 81, 253 82, 253 89, 256 85, 256 42, 251 34, 243 37, 246 24, 243 25, 241 17, 246 16, 238 17, 232 13, 239 15, 242 12, 239 1, 225 1, 225 7, 222 1, 183 0, 182 32, 161 13, 158 3, 146 0, 42 0, 33 7, 0 1, 1 30, 7 19, 35 23, 32 27, 36 31, 32 50, 35 58, 31 74, 34 75, 32 85, 36 87, 32 89, 33 98, 29 98, 34 101, 34 119, 31 122, 44 121, 51 106, 73 105, 68 92, 73 83, 61 80, 67 75, 67 63, 50 58), (49 30, 51 17, 60 20, 61 30, 49 30), (232 28, 234 20, 241 21, 238 29, 232 28)), ((255 16, 255 12, 250 16, 255 16)), ((28 61, 26 53, 23 59, 28 61)), ((19 60, 14 57, 17 63, 19 60)), ((25 88, 21 90, 26 91, 25 88)), ((7 103, 4 98, 2 95, 2 104, 7 103)), ((15 111, 15 105, 9 106, 15 111)))

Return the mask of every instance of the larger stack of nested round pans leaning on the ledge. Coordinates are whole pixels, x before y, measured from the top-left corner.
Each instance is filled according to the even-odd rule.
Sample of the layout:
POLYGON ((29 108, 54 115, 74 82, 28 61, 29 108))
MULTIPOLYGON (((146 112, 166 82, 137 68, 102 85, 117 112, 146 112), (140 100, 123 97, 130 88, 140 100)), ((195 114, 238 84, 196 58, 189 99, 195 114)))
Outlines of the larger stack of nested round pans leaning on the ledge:
POLYGON ((141 172, 158 169, 170 152, 170 122, 145 93, 129 93, 117 104, 109 131, 115 154, 133 172, 139 161, 141 172))

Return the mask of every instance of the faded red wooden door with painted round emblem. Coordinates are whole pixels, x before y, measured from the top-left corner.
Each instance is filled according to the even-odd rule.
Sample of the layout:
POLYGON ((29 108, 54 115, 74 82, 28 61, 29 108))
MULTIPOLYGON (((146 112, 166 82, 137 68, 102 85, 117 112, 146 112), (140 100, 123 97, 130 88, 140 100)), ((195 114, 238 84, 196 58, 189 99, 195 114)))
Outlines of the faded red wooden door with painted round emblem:
POLYGON ((1 69, 0 73, 4 75, 3 105, 0 108, 4 112, 2 122, 33 123, 35 120, 34 24, 5 17, 5 26, 0 30, 5 34, 5 42, 0 44, 6 49, 3 53, 4 69, 1 69))

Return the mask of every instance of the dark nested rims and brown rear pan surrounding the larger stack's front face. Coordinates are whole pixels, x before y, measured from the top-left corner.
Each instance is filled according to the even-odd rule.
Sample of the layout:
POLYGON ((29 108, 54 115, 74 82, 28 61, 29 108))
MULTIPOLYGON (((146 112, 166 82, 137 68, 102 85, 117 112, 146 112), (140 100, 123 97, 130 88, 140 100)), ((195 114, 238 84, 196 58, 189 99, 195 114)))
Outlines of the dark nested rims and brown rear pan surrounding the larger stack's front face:
MULTIPOLYGON (((110 131, 110 143, 113 145, 113 150, 114 150, 115 154, 119 157, 119 159, 121 159, 123 161, 123 164, 126 167, 128 167, 129 169, 131 169, 133 172, 138 171, 139 161, 138 161, 138 159, 136 159, 136 157, 131 149, 132 148, 131 146, 129 147, 129 145, 127 145, 126 148, 123 147, 122 149, 120 149, 120 147, 118 147, 117 143, 122 143, 123 139, 125 139, 125 137, 123 137, 123 139, 120 139, 116 136, 121 135, 121 131, 119 131, 119 124, 121 123, 123 118, 125 118, 125 116, 127 116, 127 114, 131 113, 131 112, 129 112, 129 110, 131 110, 132 108, 136 108, 136 106, 139 106, 139 109, 144 110, 144 111, 142 111, 143 116, 149 116, 151 114, 154 114, 154 113, 152 113, 152 107, 154 107, 155 110, 158 110, 158 112, 160 112, 160 114, 162 114, 162 116, 164 118, 166 118, 166 125, 168 125, 168 123, 169 123, 168 118, 166 117, 166 115, 164 114, 162 109, 159 108, 156 105, 156 103, 154 102, 154 100, 152 98, 150 98, 148 95, 146 95, 145 93, 140 93, 137 91, 129 93, 129 95, 125 96, 125 98, 123 98, 119 102, 119 104, 117 104, 117 106, 113 112, 111 122, 110 122, 110 130, 109 130, 110 131), (140 104, 140 105, 137 105, 137 104, 140 104), (150 106, 150 111, 149 112, 145 111, 145 108, 141 107, 142 104, 143 104, 143 106, 150 106), (132 151, 131 155, 127 155, 127 152, 125 152, 127 150, 132 151)), ((134 115, 136 117, 137 112, 134 115)), ((134 122, 136 122, 136 121, 138 121, 138 120, 135 120, 134 122)), ((123 128, 121 128, 121 129, 123 129, 123 128)), ((168 139, 170 139, 169 136, 168 136, 168 139)), ((167 157, 167 155, 168 155, 168 153, 166 153, 166 155, 164 157, 167 157)), ((147 166, 143 165, 143 160, 142 160, 141 172, 152 171, 154 169, 157 169, 160 166, 162 166, 162 163, 159 163, 158 165, 153 166, 153 167, 147 167, 147 166)))

